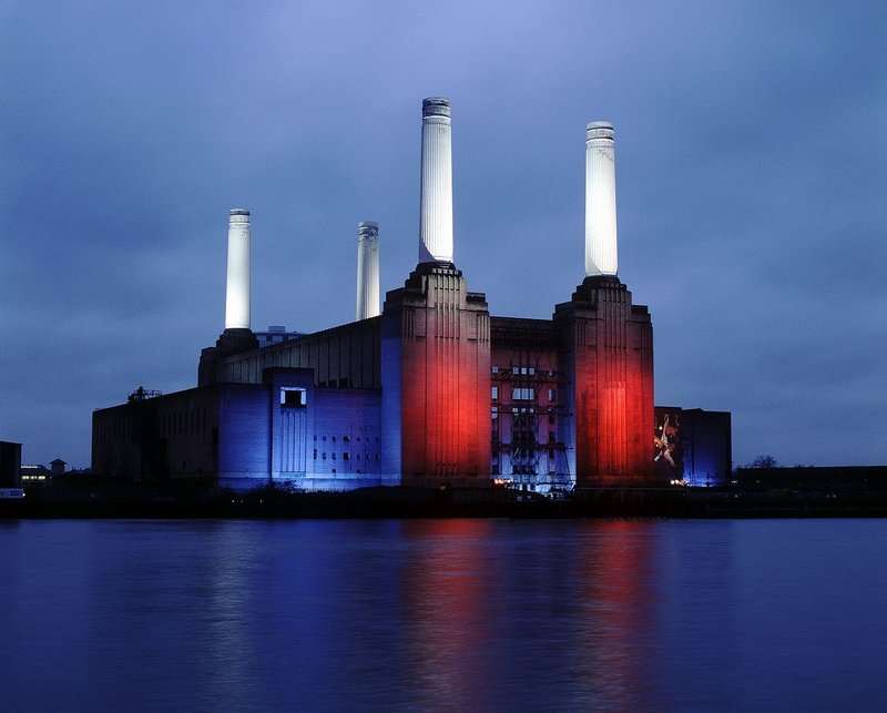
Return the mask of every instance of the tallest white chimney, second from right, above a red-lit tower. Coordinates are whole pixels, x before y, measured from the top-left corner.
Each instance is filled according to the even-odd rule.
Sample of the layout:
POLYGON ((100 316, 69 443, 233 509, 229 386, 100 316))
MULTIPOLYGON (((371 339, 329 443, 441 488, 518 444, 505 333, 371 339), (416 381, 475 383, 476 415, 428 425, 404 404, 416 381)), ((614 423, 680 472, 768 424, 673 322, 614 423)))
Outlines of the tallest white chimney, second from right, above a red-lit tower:
POLYGON ((450 100, 422 100, 422 182, 419 262, 452 262, 450 100))

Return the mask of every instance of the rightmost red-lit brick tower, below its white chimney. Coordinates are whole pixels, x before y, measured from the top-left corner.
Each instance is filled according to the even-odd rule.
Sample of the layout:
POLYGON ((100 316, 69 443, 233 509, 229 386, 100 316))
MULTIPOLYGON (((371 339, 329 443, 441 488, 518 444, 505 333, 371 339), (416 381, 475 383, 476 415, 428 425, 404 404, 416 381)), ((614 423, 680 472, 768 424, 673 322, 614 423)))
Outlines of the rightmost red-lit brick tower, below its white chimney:
POLYGON ((573 446, 578 486, 642 485, 652 480, 653 327, 646 307, 632 305, 616 277, 587 277, 560 304, 560 370, 568 414, 560 437, 573 446))

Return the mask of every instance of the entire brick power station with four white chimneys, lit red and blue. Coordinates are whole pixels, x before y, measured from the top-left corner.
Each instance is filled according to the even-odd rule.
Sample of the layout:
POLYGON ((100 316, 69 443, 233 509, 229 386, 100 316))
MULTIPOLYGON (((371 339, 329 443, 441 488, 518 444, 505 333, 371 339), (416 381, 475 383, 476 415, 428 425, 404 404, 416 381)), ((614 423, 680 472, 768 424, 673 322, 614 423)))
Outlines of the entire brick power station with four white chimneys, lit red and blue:
POLYGON ((490 315, 469 291, 451 166, 450 103, 426 99, 418 264, 380 308, 378 226, 360 223, 356 319, 314 334, 253 332, 251 215, 232 210, 225 328, 196 387, 94 411, 93 472, 235 490, 723 483, 730 415, 653 406, 650 313, 618 277, 612 124, 587 129, 585 277, 551 319, 490 315))

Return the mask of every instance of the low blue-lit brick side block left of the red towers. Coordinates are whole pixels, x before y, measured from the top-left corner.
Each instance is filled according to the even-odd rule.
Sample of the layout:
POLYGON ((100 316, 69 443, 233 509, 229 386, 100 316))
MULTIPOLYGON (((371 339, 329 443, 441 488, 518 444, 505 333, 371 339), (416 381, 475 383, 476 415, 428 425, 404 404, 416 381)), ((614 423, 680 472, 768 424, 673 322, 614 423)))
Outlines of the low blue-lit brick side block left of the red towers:
POLYGON ((93 470, 235 490, 269 480, 306 490, 385 485, 378 390, 317 387, 310 369, 264 376, 94 411, 93 470))

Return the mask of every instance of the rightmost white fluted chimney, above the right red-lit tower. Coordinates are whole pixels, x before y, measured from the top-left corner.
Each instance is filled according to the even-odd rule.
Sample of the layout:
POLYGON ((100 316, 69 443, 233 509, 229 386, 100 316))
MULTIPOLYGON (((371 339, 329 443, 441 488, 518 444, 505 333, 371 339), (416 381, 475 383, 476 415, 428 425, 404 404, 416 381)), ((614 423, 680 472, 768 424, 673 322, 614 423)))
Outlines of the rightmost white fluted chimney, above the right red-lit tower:
POLYGON ((593 121, 585 130, 585 275, 615 275, 616 267, 613 124, 593 121))

